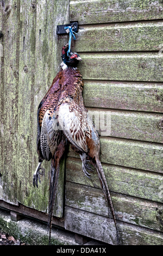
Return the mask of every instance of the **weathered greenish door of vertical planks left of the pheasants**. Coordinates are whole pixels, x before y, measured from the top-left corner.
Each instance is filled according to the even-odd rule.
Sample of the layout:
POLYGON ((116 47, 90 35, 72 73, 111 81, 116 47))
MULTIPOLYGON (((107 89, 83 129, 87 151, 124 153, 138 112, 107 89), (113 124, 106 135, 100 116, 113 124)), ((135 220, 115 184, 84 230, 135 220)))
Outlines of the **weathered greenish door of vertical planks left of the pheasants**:
MULTIPOLYGON (((59 71, 61 47, 68 37, 56 34, 69 22, 67 0, 1 2, 1 143, 0 199, 47 212, 48 169, 39 188, 32 185, 37 166, 37 107, 59 71)), ((64 165, 63 165, 64 166, 64 165)), ((54 215, 62 216, 63 175, 60 172, 54 215)), ((1 205, 0 205, 1 206, 1 205)), ((28 215, 28 214, 27 214, 28 215)))

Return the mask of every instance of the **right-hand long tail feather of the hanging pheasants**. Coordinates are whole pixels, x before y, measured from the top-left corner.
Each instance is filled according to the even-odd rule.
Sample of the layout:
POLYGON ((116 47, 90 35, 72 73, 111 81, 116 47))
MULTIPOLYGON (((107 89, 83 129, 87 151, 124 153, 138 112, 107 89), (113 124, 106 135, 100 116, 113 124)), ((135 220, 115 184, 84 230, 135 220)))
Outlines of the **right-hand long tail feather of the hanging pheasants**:
POLYGON ((118 244, 118 228, 117 228, 115 212, 114 212, 114 208, 113 208, 113 205, 112 205, 112 200, 111 200, 111 196, 110 196, 110 192, 109 192, 109 187, 108 187, 108 184, 106 182, 104 170, 103 170, 102 164, 99 160, 96 161, 96 170, 97 170, 97 173, 98 173, 99 180, 101 181, 102 190, 103 190, 106 202, 108 203, 108 207, 111 209, 112 217, 114 219, 114 223, 115 223, 115 227, 116 227, 116 233, 117 233, 117 244, 118 244))

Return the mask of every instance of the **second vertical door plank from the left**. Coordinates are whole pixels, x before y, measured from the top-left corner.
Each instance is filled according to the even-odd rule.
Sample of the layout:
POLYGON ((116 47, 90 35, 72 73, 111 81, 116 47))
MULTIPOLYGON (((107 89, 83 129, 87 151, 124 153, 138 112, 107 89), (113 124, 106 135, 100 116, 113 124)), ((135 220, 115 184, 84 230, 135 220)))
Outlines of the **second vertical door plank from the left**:
POLYGON ((20 1, 20 24, 17 200, 31 206, 36 1, 20 1))

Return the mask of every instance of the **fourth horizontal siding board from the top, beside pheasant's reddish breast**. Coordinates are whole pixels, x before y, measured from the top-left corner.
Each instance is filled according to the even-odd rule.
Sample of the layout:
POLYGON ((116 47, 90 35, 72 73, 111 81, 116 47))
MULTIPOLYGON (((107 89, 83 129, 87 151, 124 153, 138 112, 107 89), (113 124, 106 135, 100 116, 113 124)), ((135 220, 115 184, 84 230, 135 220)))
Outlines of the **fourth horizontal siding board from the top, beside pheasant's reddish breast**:
POLYGON ((84 81, 86 107, 163 112, 163 84, 84 81))

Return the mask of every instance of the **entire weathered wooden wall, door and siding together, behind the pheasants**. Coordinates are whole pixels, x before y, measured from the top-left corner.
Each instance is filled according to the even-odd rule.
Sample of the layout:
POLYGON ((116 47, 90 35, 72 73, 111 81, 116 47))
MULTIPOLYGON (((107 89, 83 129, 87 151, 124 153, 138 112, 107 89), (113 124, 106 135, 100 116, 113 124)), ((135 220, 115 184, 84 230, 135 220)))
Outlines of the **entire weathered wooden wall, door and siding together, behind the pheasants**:
MULTIPOLYGON (((48 212, 47 162, 42 164, 46 171, 39 189, 32 185, 36 112, 68 42, 67 35, 56 34, 57 25, 79 21, 72 49, 83 59, 79 69, 85 105, 90 111, 110 113, 110 134, 100 138, 101 161, 120 242, 162 245, 162 1, 70 1, 70 20, 69 0, 2 2, 0 199, 36 209, 32 217, 38 210, 48 212)), ((104 115, 101 122, 104 125, 104 115)), ((116 244, 97 173, 87 179, 79 155, 70 150, 68 156, 65 229, 116 244)), ((64 213, 64 164, 54 209, 59 218, 64 213)), ((46 221, 47 216, 41 218, 46 221)))

